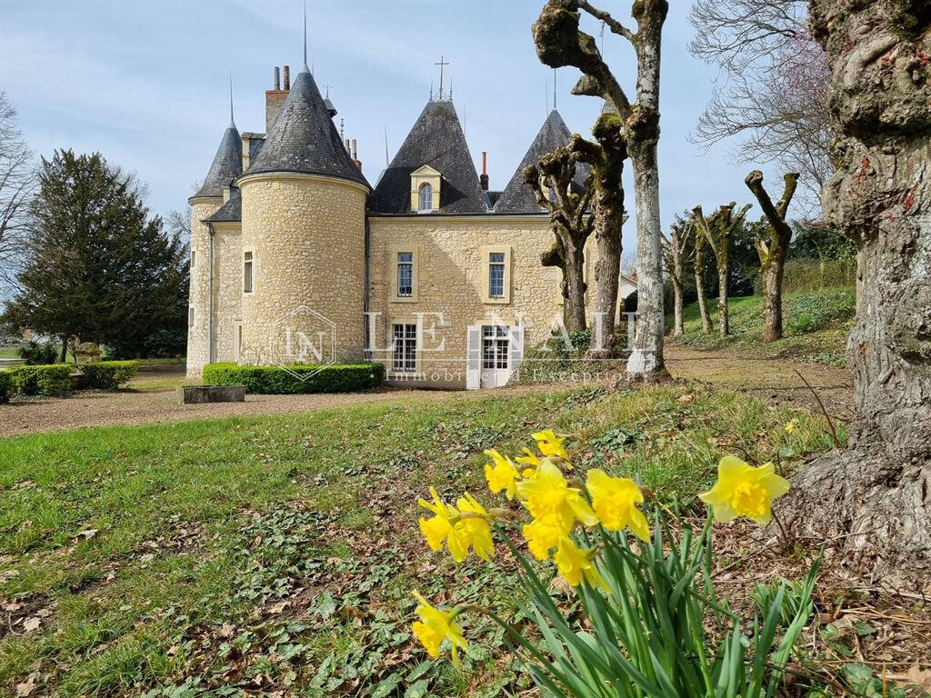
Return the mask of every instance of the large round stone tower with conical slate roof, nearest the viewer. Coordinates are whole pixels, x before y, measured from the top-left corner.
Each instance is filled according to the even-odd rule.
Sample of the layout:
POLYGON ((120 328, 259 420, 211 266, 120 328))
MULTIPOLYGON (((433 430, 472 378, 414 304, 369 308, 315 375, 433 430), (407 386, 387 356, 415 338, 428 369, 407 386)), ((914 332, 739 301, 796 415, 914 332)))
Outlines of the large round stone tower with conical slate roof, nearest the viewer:
POLYGON ((361 360, 371 187, 346 152, 306 64, 239 190, 240 360, 361 360))

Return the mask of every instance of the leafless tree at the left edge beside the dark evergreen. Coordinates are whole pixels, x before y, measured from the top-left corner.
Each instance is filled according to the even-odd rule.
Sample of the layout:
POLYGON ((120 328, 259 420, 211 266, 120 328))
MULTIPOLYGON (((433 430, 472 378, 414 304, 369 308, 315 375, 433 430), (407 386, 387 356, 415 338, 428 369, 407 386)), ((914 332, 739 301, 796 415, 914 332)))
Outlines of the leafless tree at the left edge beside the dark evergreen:
POLYGON ((17 125, 16 109, 0 92, 0 287, 15 281, 25 252, 36 181, 33 153, 17 125))

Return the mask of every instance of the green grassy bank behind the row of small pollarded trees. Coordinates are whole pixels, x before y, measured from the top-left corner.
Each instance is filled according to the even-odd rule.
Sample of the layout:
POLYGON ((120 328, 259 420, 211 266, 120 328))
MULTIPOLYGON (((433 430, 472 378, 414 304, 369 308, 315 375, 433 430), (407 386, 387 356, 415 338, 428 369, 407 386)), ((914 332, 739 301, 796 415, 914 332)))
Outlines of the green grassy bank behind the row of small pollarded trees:
MULTIPOLYGON (((782 299, 785 336, 778 342, 763 343, 762 296, 732 298, 728 302, 731 336, 718 335, 718 302, 710 300, 708 311, 714 323, 711 334, 701 331, 698 304, 683 309, 685 333, 672 342, 703 349, 738 347, 761 356, 792 356, 815 363, 845 366, 845 343, 856 312, 856 289, 839 287, 789 293, 782 299)), ((671 316, 668 326, 671 327, 671 316)))

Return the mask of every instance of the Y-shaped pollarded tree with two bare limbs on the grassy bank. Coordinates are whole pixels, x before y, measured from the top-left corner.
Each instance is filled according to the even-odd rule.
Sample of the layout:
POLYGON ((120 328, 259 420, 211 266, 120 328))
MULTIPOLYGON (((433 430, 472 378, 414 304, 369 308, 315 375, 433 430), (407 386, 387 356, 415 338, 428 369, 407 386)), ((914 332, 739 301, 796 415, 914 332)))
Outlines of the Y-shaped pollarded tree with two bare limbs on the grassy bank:
POLYGON ((786 267, 786 255, 792 239, 792 228, 786 221, 786 211, 799 181, 797 172, 783 177, 785 189, 782 198, 774 206, 772 199, 762 186, 762 172, 754 169, 745 182, 756 196, 762 208, 764 221, 769 223, 769 240, 758 237, 755 241, 760 256, 762 276, 762 341, 776 342, 782 339, 782 276, 786 267))

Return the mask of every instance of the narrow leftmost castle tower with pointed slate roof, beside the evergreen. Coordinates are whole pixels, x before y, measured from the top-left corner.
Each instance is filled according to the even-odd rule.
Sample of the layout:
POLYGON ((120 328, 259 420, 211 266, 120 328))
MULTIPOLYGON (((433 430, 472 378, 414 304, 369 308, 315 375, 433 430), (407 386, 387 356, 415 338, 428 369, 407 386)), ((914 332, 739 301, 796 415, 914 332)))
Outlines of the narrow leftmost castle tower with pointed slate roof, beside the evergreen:
MULTIPOLYGON (((201 369, 216 356, 214 352, 213 315, 210 273, 212 235, 207 219, 223 206, 223 188, 242 174, 242 141, 233 122, 223 132, 220 147, 213 156, 207 177, 196 194, 188 199, 191 206, 191 286, 188 294, 187 376, 200 378, 201 369)), ((229 191, 227 189, 227 191, 229 191)))

